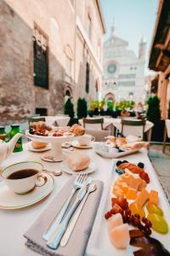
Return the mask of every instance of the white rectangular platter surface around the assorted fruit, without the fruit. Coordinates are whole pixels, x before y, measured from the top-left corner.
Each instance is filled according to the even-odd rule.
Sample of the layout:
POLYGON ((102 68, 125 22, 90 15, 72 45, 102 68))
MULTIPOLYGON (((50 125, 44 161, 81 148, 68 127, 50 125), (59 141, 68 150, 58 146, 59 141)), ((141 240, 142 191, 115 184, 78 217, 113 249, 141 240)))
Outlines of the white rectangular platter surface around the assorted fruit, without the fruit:
MULTIPOLYGON (((144 160, 142 161, 144 162, 144 160)), ((157 233, 156 231, 152 230, 151 237, 154 237, 158 241, 161 241, 164 247, 166 247, 167 250, 170 251, 170 242, 169 242, 170 207, 168 205, 167 198, 163 190, 161 189, 159 180, 156 177, 156 172, 151 166, 151 163, 149 161, 144 162, 144 170, 148 172, 150 176, 150 183, 147 185, 147 190, 150 191, 150 189, 155 189, 156 191, 158 191, 159 206, 163 210, 164 218, 167 220, 167 224, 169 225, 169 231, 167 234, 161 235, 160 233, 157 233)), ((105 220, 104 215, 105 215, 105 212, 111 209, 111 197, 113 197, 113 195, 111 195, 111 188, 112 188, 112 184, 116 181, 117 177, 118 175, 116 174, 116 172, 113 172, 110 182, 108 182, 105 185, 105 190, 99 205, 99 210, 94 221, 94 227, 91 232, 91 236, 89 237, 89 240, 88 240, 88 247, 87 247, 88 256, 104 256, 104 255, 127 256, 127 255, 133 255, 133 251, 135 251, 136 247, 132 247, 130 245, 127 247, 126 250, 116 249, 116 247, 114 247, 111 244, 111 241, 108 235, 107 221, 105 220)), ((131 226, 129 225, 129 228, 130 227, 131 226)))

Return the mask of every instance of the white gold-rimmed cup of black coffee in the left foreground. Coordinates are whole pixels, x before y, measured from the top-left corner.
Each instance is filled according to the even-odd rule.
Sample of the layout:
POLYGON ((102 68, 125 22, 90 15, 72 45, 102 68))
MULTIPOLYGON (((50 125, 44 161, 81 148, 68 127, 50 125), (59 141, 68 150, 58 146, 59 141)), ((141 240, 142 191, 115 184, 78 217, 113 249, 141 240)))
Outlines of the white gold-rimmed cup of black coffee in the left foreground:
POLYGON ((26 194, 47 182, 47 177, 42 175, 42 170, 41 163, 20 162, 4 168, 1 176, 9 189, 17 194, 26 194))

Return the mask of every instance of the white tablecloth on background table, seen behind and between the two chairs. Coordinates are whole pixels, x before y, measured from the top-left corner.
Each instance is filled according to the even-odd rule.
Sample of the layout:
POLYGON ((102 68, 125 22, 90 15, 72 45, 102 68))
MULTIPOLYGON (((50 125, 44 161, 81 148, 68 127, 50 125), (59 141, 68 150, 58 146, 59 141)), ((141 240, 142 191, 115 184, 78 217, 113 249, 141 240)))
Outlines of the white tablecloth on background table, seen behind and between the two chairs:
MULTIPOLYGON (((102 116, 100 117, 102 118, 102 116)), ((99 117, 95 118, 90 118, 90 119, 99 119, 99 117)), ((113 118, 104 118, 104 129, 106 129, 108 126, 113 125, 117 130, 121 131, 122 129, 122 124, 121 124, 122 119, 113 119, 113 118)), ((134 120, 134 119, 133 119, 134 120)), ((79 120, 80 124, 83 125, 82 119, 79 120)), ((146 121, 146 124, 144 126, 144 132, 149 131, 153 127, 153 123, 150 121, 146 121)), ((94 129, 94 130, 101 130, 101 125, 98 124, 86 124, 87 129, 94 129)), ((141 136, 142 133, 142 128, 139 128, 139 126, 126 126, 124 127, 124 136, 128 135, 135 135, 135 136, 141 136)))

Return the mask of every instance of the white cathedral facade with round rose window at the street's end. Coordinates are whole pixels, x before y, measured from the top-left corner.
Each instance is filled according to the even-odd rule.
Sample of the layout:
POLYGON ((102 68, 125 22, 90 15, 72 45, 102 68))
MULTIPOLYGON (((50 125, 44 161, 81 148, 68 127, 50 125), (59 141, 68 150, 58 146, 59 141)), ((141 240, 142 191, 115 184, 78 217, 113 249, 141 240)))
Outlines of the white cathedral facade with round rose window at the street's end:
POLYGON ((139 42, 139 55, 128 49, 127 41, 115 35, 115 27, 111 28, 111 37, 104 43, 104 76, 102 98, 144 101, 144 61, 146 43, 139 42))

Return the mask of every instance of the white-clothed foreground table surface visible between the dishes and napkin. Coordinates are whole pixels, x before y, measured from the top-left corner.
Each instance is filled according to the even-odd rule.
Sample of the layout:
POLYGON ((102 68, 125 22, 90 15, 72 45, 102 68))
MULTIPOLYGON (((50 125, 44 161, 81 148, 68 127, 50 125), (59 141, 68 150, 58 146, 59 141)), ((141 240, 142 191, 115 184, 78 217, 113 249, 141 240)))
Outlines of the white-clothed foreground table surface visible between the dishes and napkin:
MULTIPOLYGON (((30 142, 29 142, 30 143, 30 142)), ((43 162, 40 159, 42 154, 46 153, 34 153, 28 150, 29 143, 24 144, 24 150, 20 153, 13 153, 10 157, 3 161, 3 166, 9 166, 16 162, 20 161, 39 161, 42 162, 42 165, 47 170, 56 171, 59 170, 59 163, 48 163, 43 162)), ((77 149, 78 150, 78 149, 77 149)), ((69 151, 65 149, 65 154, 69 151)), ((111 175, 113 170, 113 159, 105 159, 100 157, 98 154, 94 152, 94 149, 88 149, 86 152, 90 155, 91 159, 94 160, 97 170, 92 173, 90 176, 102 180, 104 183, 104 188, 106 183, 108 182, 108 178, 111 175)), ((123 158, 125 159, 125 158, 123 158)), ((151 170, 151 172, 155 173, 153 166, 150 163, 148 154, 146 149, 141 149, 139 153, 131 154, 126 156, 126 160, 131 162, 144 162, 146 170, 151 170)), ((48 197, 39 201, 37 204, 32 205, 31 207, 26 207, 18 210, 3 210, 0 209, 0 229, 1 229, 1 239, 0 239, 0 255, 1 256, 36 256, 37 253, 31 251, 28 247, 26 247, 23 234, 28 230, 33 224, 39 215, 44 211, 46 207, 48 207, 49 203, 54 200, 55 195, 59 193, 59 190, 67 183, 71 176, 63 172, 63 174, 59 177, 54 177, 54 190, 48 197)), ((158 183, 158 180, 156 180, 158 183)), ((104 195, 105 193, 103 193, 104 195)), ((102 199, 101 199, 102 201, 102 199)), ((100 202, 101 204, 101 202, 100 202)), ((99 205, 100 207, 100 205, 99 205)), ((50 209, 49 209, 50 211, 50 209)), ((102 217, 101 217, 102 218, 102 217)), ((87 253, 90 250, 88 245, 87 253)))

